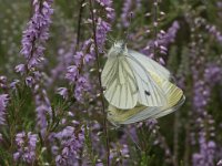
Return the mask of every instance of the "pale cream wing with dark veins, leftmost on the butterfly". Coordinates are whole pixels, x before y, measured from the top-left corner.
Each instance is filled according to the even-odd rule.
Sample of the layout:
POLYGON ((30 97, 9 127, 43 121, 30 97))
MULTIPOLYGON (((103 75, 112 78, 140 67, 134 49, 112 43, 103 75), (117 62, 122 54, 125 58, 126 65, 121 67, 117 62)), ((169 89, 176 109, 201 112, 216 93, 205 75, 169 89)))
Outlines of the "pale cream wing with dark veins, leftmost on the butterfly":
POLYGON ((138 85, 125 56, 108 58, 101 74, 104 96, 118 108, 132 108, 138 102, 138 85))

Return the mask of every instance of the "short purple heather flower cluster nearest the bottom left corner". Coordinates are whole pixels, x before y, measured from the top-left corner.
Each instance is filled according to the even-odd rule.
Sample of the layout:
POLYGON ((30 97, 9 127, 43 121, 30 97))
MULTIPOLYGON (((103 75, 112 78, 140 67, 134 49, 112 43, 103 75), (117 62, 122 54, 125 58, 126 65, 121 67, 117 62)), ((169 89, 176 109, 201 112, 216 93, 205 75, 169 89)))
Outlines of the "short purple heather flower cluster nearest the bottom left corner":
POLYGON ((13 154, 13 159, 22 160, 27 164, 32 164, 36 160, 36 146, 38 142, 38 135, 29 132, 18 133, 16 135, 16 143, 18 146, 17 152, 13 154))

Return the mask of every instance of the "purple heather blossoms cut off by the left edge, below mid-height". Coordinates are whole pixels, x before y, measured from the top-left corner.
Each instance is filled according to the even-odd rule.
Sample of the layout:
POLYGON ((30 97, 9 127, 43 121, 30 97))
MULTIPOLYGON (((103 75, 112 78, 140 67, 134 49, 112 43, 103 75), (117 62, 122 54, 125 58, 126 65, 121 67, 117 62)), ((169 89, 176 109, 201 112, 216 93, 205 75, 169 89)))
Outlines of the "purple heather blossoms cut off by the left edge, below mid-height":
POLYGON ((4 124, 6 107, 9 101, 8 94, 0 94, 0 125, 4 124))

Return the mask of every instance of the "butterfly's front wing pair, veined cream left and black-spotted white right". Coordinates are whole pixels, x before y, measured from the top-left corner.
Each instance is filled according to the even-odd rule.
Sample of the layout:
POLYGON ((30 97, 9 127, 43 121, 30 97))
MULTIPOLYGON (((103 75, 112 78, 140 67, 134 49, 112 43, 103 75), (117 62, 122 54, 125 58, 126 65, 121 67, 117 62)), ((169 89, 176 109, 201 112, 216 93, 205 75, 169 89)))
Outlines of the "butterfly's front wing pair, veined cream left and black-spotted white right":
POLYGON ((131 55, 108 58, 101 75, 104 96, 118 108, 133 108, 139 102, 145 106, 163 106, 164 91, 131 55))

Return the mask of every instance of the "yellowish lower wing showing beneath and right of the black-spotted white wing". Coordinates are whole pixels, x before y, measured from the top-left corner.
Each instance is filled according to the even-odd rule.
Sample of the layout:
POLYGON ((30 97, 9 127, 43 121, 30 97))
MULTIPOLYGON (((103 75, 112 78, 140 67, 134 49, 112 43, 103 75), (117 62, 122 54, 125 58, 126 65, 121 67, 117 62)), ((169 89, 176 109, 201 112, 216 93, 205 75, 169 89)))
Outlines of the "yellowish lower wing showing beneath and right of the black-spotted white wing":
POLYGON ((185 100, 182 90, 168 81, 159 82, 159 84, 165 90, 164 93, 168 98, 165 106, 138 105, 132 110, 123 111, 109 105, 108 120, 115 125, 131 124, 148 118, 159 118, 178 110, 185 100))

